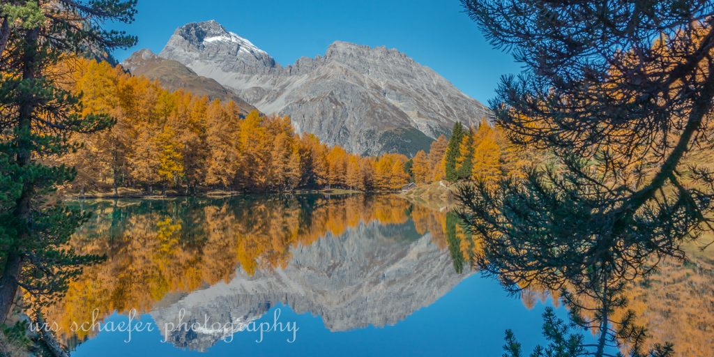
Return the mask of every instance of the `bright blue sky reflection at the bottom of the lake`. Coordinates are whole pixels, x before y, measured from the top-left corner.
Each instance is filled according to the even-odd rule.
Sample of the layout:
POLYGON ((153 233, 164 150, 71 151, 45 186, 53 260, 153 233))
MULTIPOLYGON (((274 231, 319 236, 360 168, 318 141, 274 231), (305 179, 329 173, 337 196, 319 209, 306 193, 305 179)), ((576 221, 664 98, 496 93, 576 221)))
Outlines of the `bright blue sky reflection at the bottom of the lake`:
MULTIPOLYGON (((548 303, 548 306, 552 304, 548 303)), ((540 314, 545 306, 538 303, 528 310, 520 300, 509 298, 495 281, 471 276, 461 281, 431 306, 412 313, 394 326, 369 326, 344 332, 331 332, 321 319, 311 313, 293 313, 289 306, 278 303, 256 323, 273 323, 273 312, 281 309, 281 321, 294 321, 299 330, 294 343, 288 343, 287 332, 266 333, 256 343, 258 332, 242 331, 233 341, 219 341, 206 353, 178 349, 161 343, 159 331, 133 332, 131 342, 124 343, 125 332, 99 333, 81 344, 72 356, 226 356, 240 353, 261 356, 501 356, 503 331, 511 328, 523 336, 524 348, 545 343, 540 334, 540 314)), ((558 308, 565 318, 565 308, 558 308)), ((107 321, 128 321, 116 313, 107 321)), ((141 321, 154 320, 149 314, 141 321)))

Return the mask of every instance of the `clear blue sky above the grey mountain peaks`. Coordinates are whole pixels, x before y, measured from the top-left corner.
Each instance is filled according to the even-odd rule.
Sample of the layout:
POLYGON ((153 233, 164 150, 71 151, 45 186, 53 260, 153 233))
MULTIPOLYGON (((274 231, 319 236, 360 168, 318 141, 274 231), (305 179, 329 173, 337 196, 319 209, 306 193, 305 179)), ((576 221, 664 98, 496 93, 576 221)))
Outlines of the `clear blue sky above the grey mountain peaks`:
POLYGON ((486 42, 458 0, 139 0, 137 9, 134 24, 108 24, 139 36, 137 46, 115 52, 119 61, 142 48, 158 54, 177 27, 214 19, 283 66, 323 55, 337 40, 395 48, 483 104, 501 75, 521 71, 486 42))

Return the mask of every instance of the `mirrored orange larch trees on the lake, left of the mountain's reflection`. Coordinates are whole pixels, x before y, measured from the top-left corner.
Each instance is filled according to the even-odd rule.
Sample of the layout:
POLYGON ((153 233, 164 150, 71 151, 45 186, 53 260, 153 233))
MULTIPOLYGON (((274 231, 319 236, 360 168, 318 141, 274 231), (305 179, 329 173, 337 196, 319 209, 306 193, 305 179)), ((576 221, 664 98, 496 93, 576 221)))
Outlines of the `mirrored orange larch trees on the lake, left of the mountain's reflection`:
MULTIPOLYGON (((139 314, 164 308, 158 304, 230 283, 236 268, 248 275, 286 268, 294 248, 373 221, 401 225, 411 219, 414 235, 431 233, 434 245, 442 251, 448 246, 446 213, 393 195, 95 201, 84 208, 94 218, 71 244, 109 259, 85 268, 48 311, 61 331, 71 331, 74 321, 92 321, 95 308, 98 322, 114 311, 126 316, 131 308, 139 314)), ((79 330, 60 337, 76 346, 94 334, 79 330)))

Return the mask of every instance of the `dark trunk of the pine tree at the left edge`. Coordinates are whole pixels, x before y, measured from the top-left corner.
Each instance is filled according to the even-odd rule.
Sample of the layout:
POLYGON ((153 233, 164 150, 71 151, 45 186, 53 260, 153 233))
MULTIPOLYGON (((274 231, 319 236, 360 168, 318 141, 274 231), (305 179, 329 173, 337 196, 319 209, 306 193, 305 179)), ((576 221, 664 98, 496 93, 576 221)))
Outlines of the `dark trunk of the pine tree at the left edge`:
MULTIPOLYGON (((29 31, 25 41, 27 44, 36 44, 39 37, 39 29, 29 31)), ((26 45, 31 46, 31 45, 26 45)), ((22 71, 23 79, 36 79, 36 52, 25 50, 22 56, 24 68, 22 71)), ((18 111, 18 129, 19 135, 29 135, 32 129, 32 114, 35 111, 34 99, 25 99, 21 101, 18 111)), ((20 139, 17 151, 17 166, 24 167, 31 164, 31 146, 29 139, 20 139)), ((17 293, 20 272, 22 271, 22 255, 26 240, 29 239, 29 234, 26 230, 29 227, 28 221, 30 218, 30 202, 34 193, 34 183, 30 180, 24 180, 20 197, 15 201, 13 216, 18 227, 17 241, 11 244, 10 251, 5 263, 5 271, 0 278, 0 322, 4 322, 17 293)))

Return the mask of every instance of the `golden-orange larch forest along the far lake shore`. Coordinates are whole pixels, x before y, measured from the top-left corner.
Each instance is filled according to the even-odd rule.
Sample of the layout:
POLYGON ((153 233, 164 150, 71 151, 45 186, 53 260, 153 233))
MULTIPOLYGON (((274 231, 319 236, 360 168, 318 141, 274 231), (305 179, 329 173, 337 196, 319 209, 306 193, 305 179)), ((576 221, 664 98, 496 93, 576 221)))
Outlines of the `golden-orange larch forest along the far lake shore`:
POLYGON ((478 128, 454 126, 408 159, 402 154, 362 157, 296 133, 287 116, 245 117, 232 101, 221 103, 159 81, 127 74, 121 66, 78 59, 64 64, 66 87, 82 95, 82 115, 108 114, 107 131, 76 134, 84 145, 62 159, 75 166, 74 188, 113 185, 183 189, 197 186, 246 191, 291 188, 395 190, 409 181, 431 183, 493 177, 518 164, 499 129, 485 119, 478 128))

